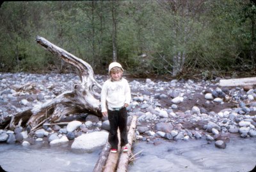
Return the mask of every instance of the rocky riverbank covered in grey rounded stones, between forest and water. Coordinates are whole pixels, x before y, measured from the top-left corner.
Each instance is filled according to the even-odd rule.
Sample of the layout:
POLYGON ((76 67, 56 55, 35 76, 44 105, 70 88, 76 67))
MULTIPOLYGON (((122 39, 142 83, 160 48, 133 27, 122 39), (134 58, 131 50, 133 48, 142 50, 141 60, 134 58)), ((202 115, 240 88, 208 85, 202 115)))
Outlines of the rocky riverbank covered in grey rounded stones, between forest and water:
MULTIPOLYGON (((107 76, 96 75, 102 84, 107 76)), ((28 110, 45 103, 65 90, 72 90, 79 80, 75 74, 0 73, 0 117, 28 110), (20 85, 30 83, 27 90, 18 92, 20 85)), ((132 90, 128 107, 129 119, 138 116, 136 140, 207 140, 225 148, 230 135, 255 137, 256 89, 254 87, 218 87, 220 78, 211 81, 150 80, 127 78, 132 90)), ((28 128, 14 131, 0 129, 1 143, 36 142, 58 146, 72 141, 72 149, 92 152, 106 143, 109 122, 86 113, 63 118, 61 124, 44 124, 28 133, 28 128)))

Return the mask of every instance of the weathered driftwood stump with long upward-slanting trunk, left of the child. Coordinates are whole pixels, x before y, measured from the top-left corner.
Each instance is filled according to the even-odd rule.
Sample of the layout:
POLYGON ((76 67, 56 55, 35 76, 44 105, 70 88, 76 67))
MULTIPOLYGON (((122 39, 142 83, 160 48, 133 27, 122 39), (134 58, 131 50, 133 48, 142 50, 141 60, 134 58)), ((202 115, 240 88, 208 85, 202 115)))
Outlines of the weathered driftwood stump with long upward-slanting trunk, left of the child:
POLYGON ((102 117, 99 94, 95 92, 95 86, 101 89, 101 85, 96 82, 90 64, 57 47, 45 38, 37 36, 36 42, 74 66, 77 69, 80 82, 74 83, 74 90, 63 92, 50 101, 15 115, 1 118, 0 128, 14 129, 17 125, 29 125, 31 129, 35 129, 46 121, 58 122, 63 116, 75 113, 92 113, 102 117))

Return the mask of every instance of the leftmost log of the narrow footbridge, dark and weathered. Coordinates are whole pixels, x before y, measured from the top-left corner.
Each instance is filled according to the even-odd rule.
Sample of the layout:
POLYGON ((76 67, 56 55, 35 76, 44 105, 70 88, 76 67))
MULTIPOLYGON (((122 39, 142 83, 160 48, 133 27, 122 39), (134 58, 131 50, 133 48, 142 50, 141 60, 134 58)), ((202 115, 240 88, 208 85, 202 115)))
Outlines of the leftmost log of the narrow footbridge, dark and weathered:
POLYGON ((106 143, 104 145, 104 147, 102 148, 102 152, 99 155, 99 159, 96 162, 96 165, 93 169, 93 172, 102 172, 103 171, 106 161, 108 159, 110 148, 111 147, 108 143, 106 143))

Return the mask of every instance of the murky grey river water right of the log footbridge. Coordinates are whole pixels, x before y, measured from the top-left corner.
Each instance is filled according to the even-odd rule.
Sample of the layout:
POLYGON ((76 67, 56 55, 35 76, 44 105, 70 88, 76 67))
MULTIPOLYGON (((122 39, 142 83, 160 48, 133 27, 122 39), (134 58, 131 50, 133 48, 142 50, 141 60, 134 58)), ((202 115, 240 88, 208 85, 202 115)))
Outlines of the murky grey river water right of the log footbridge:
POLYGON ((251 171, 256 165, 256 138, 232 138, 227 148, 220 149, 205 140, 135 143, 139 157, 129 171, 251 171))

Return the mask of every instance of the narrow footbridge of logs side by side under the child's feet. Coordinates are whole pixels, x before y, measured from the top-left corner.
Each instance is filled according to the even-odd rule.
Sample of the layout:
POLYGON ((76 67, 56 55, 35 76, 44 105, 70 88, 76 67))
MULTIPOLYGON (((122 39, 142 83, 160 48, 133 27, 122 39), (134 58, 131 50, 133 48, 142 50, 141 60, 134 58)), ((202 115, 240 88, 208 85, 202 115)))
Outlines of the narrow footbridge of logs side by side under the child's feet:
POLYGON ((134 133, 136 129, 136 122, 137 122, 137 116, 134 115, 132 116, 132 121, 129 127, 128 136, 127 136, 128 137, 127 148, 129 149, 129 151, 122 152, 119 145, 118 152, 116 154, 113 154, 113 153, 109 154, 110 145, 109 143, 106 143, 106 145, 102 149, 100 157, 95 165, 95 168, 93 169, 93 172, 102 172, 102 171, 103 172, 113 172, 113 171, 125 172, 127 171, 129 157, 132 154, 131 148, 132 148, 132 141, 134 139, 134 133))

